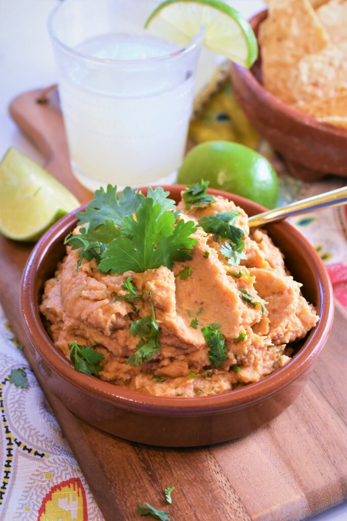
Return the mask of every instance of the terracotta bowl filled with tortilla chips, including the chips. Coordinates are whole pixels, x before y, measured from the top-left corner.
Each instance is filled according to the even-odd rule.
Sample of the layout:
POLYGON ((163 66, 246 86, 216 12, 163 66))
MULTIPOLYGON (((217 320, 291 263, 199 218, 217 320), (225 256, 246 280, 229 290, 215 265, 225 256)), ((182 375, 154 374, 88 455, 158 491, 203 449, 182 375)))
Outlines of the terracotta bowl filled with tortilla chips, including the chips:
MULTIPOLYGON (((328 4, 322 7, 327 6, 328 4)), ((347 5, 345 7, 347 8, 347 5)), ((317 29, 315 26, 316 18, 313 18, 315 23, 312 23, 310 18, 313 15, 316 17, 316 12, 312 9, 307 17, 303 14, 299 15, 302 18, 301 22, 306 25, 306 29, 302 27, 299 40, 302 41, 307 34, 313 34, 314 29, 317 30, 318 35, 313 34, 314 42, 322 36, 319 27, 317 29), (310 23, 311 31, 308 29, 310 23)), ((236 64, 231 67, 236 99, 252 126, 284 158, 294 176, 305 181, 314 181, 328 174, 347 177, 347 128, 343 128, 343 125, 347 126, 347 90, 341 88, 339 94, 332 98, 327 98, 329 93, 325 90, 326 83, 334 84, 334 76, 341 75, 342 78, 344 75, 345 80, 343 78, 342 80, 347 84, 347 58, 343 58, 347 53, 347 41, 343 42, 342 50, 337 49, 336 53, 335 46, 324 47, 324 42, 321 42, 322 51, 315 56, 304 55, 301 63, 290 70, 289 63, 281 62, 284 56, 288 55, 286 47, 281 46, 281 39, 286 38, 285 24, 291 26, 291 13, 288 11, 287 18, 282 19, 282 24, 278 23, 278 26, 273 24, 268 33, 263 36, 260 27, 267 20, 267 16, 268 11, 264 10, 255 15, 250 23, 259 44, 260 41, 266 42, 269 48, 262 49, 261 44, 259 45, 259 58, 250 70, 236 64), (268 59, 266 76, 264 75, 265 57, 268 59), (324 67, 325 62, 326 67, 324 67), (334 66, 331 65, 332 62, 334 66), (316 86, 314 85, 315 70, 310 72, 310 66, 314 68, 315 64, 318 64, 317 70, 321 78, 317 80, 316 86), (287 76, 288 70, 289 76, 287 76), (324 74, 329 77, 329 82, 325 82, 324 74), (286 86, 291 84, 291 81, 293 83, 290 92, 286 92, 286 86), (296 100, 294 95, 297 96, 296 100), (303 110, 306 110, 306 113, 303 110), (328 121, 335 122, 335 125, 328 124, 328 121), (339 126, 336 126, 336 123, 339 126)), ((279 20, 280 17, 276 19, 279 20)), ((296 43, 293 40, 292 45, 296 43)), ((312 43, 312 45, 314 47, 316 44, 312 43)), ((298 51, 299 56, 300 53, 303 53, 302 49, 298 51)))

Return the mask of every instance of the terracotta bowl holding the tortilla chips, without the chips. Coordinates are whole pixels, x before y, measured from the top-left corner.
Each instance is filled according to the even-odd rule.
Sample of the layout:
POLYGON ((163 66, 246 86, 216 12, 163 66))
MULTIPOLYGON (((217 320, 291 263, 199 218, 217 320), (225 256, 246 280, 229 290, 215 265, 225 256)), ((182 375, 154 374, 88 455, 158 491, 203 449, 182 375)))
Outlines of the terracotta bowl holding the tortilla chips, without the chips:
MULTIPOLYGON (((267 10, 250 19, 258 36, 267 10)), ((251 125, 279 152, 291 173, 305 181, 327 174, 347 177, 347 130, 322 123, 295 110, 262 85, 260 57, 248 70, 231 66, 236 99, 251 125)))

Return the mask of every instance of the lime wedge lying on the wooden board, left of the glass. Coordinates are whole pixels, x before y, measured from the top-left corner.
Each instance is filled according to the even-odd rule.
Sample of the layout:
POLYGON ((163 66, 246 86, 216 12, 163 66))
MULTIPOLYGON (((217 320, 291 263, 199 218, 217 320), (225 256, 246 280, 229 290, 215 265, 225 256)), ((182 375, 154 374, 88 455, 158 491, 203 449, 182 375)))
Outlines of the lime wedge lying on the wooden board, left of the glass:
POLYGON ((0 233, 35 241, 80 203, 47 170, 16 148, 0 164, 0 233))

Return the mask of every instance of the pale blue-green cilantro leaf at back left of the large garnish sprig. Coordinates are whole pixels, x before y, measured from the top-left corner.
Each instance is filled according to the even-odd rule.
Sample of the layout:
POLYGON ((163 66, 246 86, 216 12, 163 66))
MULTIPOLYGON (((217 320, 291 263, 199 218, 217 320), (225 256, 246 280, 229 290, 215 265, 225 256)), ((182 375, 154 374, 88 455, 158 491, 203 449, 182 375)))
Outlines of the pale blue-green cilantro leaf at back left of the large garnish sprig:
POLYGON ((143 199, 145 196, 135 189, 126 187, 118 194, 117 186, 109 184, 106 192, 103 188, 96 190, 93 201, 76 217, 80 219, 79 224, 89 222, 92 229, 104 225, 107 220, 120 226, 125 216, 136 212, 143 199))

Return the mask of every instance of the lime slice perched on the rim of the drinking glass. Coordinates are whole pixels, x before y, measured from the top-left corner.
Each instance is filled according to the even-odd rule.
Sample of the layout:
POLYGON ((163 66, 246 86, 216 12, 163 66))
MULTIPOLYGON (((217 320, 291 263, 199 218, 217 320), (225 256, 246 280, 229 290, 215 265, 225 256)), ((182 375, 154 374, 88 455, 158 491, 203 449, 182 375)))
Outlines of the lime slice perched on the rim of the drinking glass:
POLYGON ((248 21, 220 0, 166 0, 145 23, 152 34, 182 46, 203 28, 203 43, 243 67, 258 57, 258 45, 248 21))

